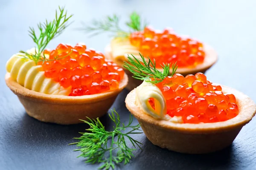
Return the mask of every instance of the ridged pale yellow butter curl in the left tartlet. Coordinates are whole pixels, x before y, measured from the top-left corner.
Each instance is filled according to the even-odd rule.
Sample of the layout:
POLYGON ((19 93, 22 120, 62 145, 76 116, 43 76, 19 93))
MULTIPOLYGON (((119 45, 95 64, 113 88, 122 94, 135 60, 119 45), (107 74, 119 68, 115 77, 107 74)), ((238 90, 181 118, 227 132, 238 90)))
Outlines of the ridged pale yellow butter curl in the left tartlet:
MULTIPOLYGON (((35 48, 27 51, 35 53, 35 48)), ((36 65, 33 60, 20 58, 19 55, 13 55, 6 63, 6 70, 10 72, 13 80, 29 90, 41 92, 44 94, 55 94, 67 96, 71 92, 71 86, 63 88, 58 82, 44 76, 41 65, 36 65)))

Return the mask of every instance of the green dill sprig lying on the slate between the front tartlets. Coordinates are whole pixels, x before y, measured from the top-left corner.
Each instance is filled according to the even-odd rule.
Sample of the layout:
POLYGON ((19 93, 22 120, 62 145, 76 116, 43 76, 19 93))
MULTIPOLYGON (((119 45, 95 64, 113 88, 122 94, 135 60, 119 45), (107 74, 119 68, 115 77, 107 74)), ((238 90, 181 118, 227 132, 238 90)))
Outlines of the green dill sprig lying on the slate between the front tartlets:
POLYGON ((115 109, 113 111, 111 110, 111 112, 111 114, 109 113, 109 117, 115 123, 113 131, 106 131, 99 118, 96 120, 87 118, 88 121, 82 121, 90 126, 90 128, 87 129, 87 131, 90 132, 81 133, 81 137, 74 138, 80 141, 72 143, 76 144, 77 147, 80 147, 75 151, 81 151, 81 155, 78 157, 86 158, 86 163, 103 163, 99 169, 114 169, 116 164, 123 161, 124 164, 127 164, 134 156, 132 152, 136 150, 135 147, 140 147, 140 144, 142 144, 129 136, 130 134, 142 133, 135 132, 135 130, 140 130, 140 124, 135 126, 131 125, 133 121, 131 114, 128 125, 124 125, 124 123, 120 125, 119 114, 115 109), (131 130, 124 132, 128 128, 131 128, 131 130), (128 147, 125 139, 128 139, 134 148, 128 147), (111 142, 110 146, 108 146, 108 142, 111 142), (116 152, 114 152, 114 150, 116 150, 116 152))

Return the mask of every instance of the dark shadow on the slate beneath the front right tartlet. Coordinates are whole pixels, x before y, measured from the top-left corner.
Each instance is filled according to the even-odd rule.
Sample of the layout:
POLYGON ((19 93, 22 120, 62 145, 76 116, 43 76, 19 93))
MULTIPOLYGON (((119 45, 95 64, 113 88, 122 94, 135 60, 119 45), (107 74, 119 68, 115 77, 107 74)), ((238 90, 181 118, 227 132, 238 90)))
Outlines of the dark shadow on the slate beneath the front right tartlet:
POLYGON ((137 150, 136 152, 140 153, 135 153, 134 159, 125 166, 125 169, 129 170, 131 167, 146 170, 156 170, 159 167, 165 170, 173 169, 173 167, 178 170, 233 169, 235 167, 232 162, 243 159, 235 155, 233 144, 215 153, 191 155, 162 149, 152 144, 145 135, 144 138, 143 151, 137 150))

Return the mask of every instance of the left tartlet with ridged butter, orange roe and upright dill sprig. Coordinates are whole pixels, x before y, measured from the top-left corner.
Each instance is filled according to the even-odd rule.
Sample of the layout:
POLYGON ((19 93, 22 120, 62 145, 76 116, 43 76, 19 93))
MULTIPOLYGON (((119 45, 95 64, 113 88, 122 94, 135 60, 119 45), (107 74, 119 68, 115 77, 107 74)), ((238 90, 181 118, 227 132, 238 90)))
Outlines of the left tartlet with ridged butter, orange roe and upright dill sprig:
POLYGON ((19 51, 6 63, 6 84, 29 116, 43 122, 76 124, 101 117, 128 82, 122 68, 83 43, 46 49, 70 17, 59 8, 52 22, 38 24, 39 35, 30 28, 36 47, 19 51))

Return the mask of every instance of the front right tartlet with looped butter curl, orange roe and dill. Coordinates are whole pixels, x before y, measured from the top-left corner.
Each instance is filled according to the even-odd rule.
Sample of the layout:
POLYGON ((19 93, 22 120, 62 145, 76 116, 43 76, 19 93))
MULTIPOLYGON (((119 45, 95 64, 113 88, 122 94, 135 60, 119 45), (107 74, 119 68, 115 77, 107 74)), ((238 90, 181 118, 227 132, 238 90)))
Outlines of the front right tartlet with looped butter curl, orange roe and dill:
POLYGON ((229 146, 255 116, 252 99, 235 89, 207 80, 202 73, 163 72, 144 57, 128 57, 125 68, 144 80, 125 99, 147 138, 155 145, 181 153, 210 153, 229 146), (129 64, 131 63, 131 64, 129 64), (140 68, 142 71, 138 71, 140 68))

